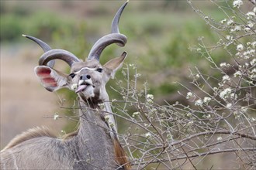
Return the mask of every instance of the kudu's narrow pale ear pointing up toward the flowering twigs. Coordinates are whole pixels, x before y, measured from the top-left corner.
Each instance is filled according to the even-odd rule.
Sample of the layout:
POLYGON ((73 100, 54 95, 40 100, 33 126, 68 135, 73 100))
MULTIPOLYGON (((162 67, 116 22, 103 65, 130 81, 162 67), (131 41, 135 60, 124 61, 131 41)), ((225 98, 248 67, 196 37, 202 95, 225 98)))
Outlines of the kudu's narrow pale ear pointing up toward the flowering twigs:
POLYGON ((116 57, 114 59, 109 60, 104 66, 109 70, 109 76, 113 79, 117 70, 119 70, 122 65, 124 59, 126 59, 127 53, 123 52, 122 56, 116 57))

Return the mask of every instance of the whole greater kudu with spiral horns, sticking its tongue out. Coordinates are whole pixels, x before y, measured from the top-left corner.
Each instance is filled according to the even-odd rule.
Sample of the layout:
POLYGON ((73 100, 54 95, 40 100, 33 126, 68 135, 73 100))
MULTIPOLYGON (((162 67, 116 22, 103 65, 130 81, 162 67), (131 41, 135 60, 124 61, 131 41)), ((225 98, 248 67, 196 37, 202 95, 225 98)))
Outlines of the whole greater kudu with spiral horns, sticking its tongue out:
POLYGON ((35 73, 49 91, 63 87, 74 90, 79 100, 77 132, 68 138, 55 138, 47 128, 33 128, 10 141, 1 151, 1 169, 129 169, 125 152, 117 138, 116 124, 106 92, 106 83, 123 64, 126 52, 102 66, 102 50, 112 43, 126 44, 119 33, 119 17, 127 2, 112 20, 112 32, 92 46, 85 62, 64 49, 51 49, 45 42, 26 36, 39 44, 45 53, 35 73), (54 70, 54 59, 71 66, 66 75, 54 70), (105 106, 103 109, 99 105, 105 106))

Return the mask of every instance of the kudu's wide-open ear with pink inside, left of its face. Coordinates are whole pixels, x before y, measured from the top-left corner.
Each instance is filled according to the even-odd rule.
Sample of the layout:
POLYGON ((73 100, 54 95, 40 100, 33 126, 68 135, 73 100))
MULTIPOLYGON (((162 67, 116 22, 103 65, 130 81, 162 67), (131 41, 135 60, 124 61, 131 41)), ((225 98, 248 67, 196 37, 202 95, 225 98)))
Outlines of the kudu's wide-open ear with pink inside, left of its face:
POLYGON ((43 87, 49 91, 67 87, 67 75, 57 72, 49 66, 36 66, 35 73, 43 87))

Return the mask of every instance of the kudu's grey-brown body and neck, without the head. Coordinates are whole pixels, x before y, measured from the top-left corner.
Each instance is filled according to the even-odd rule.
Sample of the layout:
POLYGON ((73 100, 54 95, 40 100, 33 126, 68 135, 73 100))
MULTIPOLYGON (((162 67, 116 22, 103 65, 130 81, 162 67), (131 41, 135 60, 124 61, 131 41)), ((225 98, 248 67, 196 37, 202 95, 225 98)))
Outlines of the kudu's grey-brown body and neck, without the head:
POLYGON ((1 169, 115 169, 112 140, 99 113, 81 110, 78 134, 67 140, 36 128, 1 152, 1 169), (47 135, 49 134, 49 135, 47 135), (20 140, 22 139, 22 140, 20 140), (26 139, 26 140, 25 140, 26 139), (18 141, 18 142, 17 142, 18 141))

